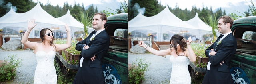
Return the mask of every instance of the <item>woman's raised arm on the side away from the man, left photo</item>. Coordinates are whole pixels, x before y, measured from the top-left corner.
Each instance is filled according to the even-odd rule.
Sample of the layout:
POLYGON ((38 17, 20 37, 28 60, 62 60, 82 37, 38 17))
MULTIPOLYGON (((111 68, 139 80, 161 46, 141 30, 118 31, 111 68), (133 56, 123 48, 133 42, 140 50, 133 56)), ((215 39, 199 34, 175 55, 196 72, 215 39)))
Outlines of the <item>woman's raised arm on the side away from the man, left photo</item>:
POLYGON ((36 19, 30 19, 30 21, 28 21, 28 29, 25 31, 25 33, 21 39, 21 42, 25 46, 28 46, 28 48, 31 48, 33 50, 36 48, 36 44, 38 44, 38 43, 28 41, 28 35, 30 34, 31 30, 37 25, 37 23, 34 24, 35 21, 36 21, 36 19))

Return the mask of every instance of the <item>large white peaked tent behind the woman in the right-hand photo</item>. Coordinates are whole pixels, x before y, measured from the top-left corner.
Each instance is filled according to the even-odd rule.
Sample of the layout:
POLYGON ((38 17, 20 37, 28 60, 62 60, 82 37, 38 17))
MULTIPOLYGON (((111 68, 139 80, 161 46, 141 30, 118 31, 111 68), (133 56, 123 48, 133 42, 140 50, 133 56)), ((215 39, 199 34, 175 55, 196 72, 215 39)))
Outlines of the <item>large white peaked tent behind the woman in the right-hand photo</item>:
MULTIPOLYGON (((150 30, 157 33, 157 41, 163 41, 163 33, 168 33, 168 38, 173 34, 190 33, 196 36, 200 35, 201 29, 198 29, 188 23, 185 23, 174 14, 169 8, 166 8, 152 17, 145 17, 142 14, 137 15, 129 21, 129 32, 150 30)), ((170 40, 170 39, 168 39, 170 40)))

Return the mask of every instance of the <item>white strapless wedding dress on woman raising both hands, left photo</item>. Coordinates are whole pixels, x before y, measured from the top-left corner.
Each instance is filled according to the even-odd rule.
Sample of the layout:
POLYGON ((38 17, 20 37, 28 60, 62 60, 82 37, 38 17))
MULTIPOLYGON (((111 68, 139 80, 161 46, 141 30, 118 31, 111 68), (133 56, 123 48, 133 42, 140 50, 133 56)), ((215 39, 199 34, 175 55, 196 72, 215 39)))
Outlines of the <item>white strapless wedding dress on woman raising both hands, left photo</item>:
POLYGON ((36 52, 35 84, 57 84, 57 74, 53 64, 55 52, 36 52))

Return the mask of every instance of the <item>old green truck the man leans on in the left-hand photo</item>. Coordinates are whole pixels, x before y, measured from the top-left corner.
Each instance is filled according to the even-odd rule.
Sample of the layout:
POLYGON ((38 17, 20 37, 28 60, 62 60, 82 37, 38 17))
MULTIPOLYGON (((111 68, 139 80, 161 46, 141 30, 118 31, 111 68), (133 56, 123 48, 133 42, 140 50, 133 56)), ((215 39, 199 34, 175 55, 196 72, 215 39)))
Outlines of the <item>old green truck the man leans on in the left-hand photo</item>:
MULTIPOLYGON (((108 52, 102 60, 105 83, 128 84, 128 14, 108 16, 104 27, 110 37, 108 52)), ((78 70, 79 65, 68 63, 59 52, 56 52, 56 61, 64 74, 67 69, 78 70)))

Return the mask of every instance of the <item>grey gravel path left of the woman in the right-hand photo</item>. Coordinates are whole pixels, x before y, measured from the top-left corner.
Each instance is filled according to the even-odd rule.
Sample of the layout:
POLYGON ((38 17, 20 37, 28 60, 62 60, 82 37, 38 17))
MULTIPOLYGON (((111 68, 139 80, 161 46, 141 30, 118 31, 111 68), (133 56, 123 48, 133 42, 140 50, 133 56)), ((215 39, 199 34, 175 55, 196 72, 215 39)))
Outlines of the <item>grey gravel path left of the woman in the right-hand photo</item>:
POLYGON ((150 61, 150 69, 145 73, 145 80, 142 84, 169 84, 172 71, 172 63, 169 61, 170 55, 166 58, 162 56, 156 56, 153 54, 134 54, 129 53, 129 61, 131 64, 136 61, 137 58, 145 58, 146 61, 150 61))

